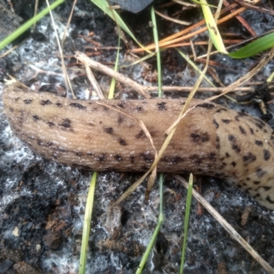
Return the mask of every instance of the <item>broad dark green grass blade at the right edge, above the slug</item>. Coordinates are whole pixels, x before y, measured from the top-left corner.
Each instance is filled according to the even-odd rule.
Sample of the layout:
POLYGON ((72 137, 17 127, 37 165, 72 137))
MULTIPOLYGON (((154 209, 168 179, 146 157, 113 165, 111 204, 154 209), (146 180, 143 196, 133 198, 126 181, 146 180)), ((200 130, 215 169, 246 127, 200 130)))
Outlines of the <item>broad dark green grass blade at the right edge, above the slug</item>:
POLYGON ((238 51, 229 53, 228 55, 233 58, 248 58, 256 55, 266 49, 271 49, 274 47, 274 32, 268 34, 258 40, 251 42, 249 45, 242 47, 238 51))

